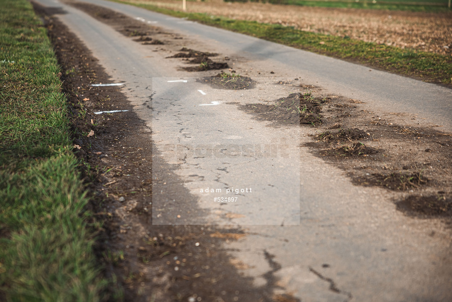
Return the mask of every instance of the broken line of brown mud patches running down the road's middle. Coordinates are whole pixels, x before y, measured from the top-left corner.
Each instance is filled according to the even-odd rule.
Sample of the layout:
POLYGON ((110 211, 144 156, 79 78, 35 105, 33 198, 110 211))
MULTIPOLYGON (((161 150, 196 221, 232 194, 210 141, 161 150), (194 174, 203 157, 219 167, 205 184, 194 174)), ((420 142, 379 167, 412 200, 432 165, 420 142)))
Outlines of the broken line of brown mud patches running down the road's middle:
MULTIPOLYGON (((81 2, 74 2, 73 5, 126 36, 139 36, 137 42, 157 38, 162 41, 170 41, 168 38, 182 38, 107 8, 81 2)), ((213 62, 209 59, 217 56, 218 54, 183 48, 170 58, 179 58, 183 61, 185 59, 186 63, 199 64, 181 67, 184 70, 228 68, 227 63, 213 62)), ((222 88, 224 80, 215 79, 221 78, 222 74, 226 73, 221 72, 215 77, 205 78, 204 82, 222 88)), ((229 78, 233 79, 232 76, 229 78)), ((227 79, 226 82, 232 82, 230 80, 227 79)), ((227 88, 228 85, 230 84, 224 85, 223 88, 237 89, 237 86, 234 88, 233 85, 227 88)), ((259 120, 272 121, 273 125, 301 124, 316 127, 316 134, 312 135, 313 141, 305 143, 304 147, 310 148, 317 156, 343 169, 357 185, 379 186, 400 191, 401 195, 396 197, 395 203, 404 201, 409 196, 437 196, 440 200, 442 198, 451 200, 451 134, 435 130, 434 125, 424 128, 399 123, 397 117, 403 116, 402 113, 381 115, 360 109, 359 106, 363 103, 360 100, 314 95, 318 88, 312 85, 301 84, 298 88, 303 92, 274 100, 272 105, 247 104, 239 105, 239 108, 255 115, 259 120)), ((402 210, 400 207, 397 209, 402 210)), ((406 207, 403 209, 405 212, 408 211, 406 207)))

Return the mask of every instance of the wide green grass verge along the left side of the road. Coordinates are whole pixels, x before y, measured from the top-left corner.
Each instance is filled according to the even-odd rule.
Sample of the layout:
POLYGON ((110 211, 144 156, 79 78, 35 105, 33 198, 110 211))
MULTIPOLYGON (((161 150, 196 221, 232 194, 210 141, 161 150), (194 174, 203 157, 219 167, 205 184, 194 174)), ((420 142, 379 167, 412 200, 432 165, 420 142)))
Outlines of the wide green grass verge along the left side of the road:
POLYGON ((27 0, 0 11, 0 300, 101 301, 66 98, 27 0))

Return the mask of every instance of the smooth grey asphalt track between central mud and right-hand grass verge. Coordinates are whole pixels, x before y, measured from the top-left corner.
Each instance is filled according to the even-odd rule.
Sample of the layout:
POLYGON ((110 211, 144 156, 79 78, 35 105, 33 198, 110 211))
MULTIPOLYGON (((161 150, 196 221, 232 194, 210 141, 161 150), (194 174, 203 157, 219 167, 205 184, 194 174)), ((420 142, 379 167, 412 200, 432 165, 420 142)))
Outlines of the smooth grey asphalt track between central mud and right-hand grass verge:
POLYGON ((105 0, 89 3, 104 5, 152 25, 197 38, 215 45, 222 53, 237 54, 257 64, 273 66, 278 74, 298 76, 306 84, 327 92, 369 102, 374 109, 419 115, 427 122, 452 130, 452 90, 435 84, 401 77, 342 60, 293 49, 276 43, 204 26, 195 22, 152 13, 134 6, 105 0))

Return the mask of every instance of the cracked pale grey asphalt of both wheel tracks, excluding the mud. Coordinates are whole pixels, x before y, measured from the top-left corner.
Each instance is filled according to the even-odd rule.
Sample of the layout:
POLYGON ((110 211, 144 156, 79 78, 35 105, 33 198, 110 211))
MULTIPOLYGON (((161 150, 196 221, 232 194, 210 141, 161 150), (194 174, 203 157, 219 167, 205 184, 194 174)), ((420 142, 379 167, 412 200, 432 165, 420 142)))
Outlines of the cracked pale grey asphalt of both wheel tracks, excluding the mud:
MULTIPOLYGON (((116 26, 100 23, 74 8, 82 9, 80 4, 69 6, 50 0, 37 2, 62 8, 65 13, 59 14, 58 18, 99 59, 112 76, 112 81, 124 83, 122 91, 133 111, 152 131, 152 203, 157 207, 152 209, 152 215, 141 212, 143 216, 136 219, 139 225, 132 228, 146 234, 146 230, 157 228, 156 224, 180 224, 182 228, 194 228, 192 225, 196 222, 223 225, 218 233, 212 232, 208 226, 202 230, 206 234, 211 232, 210 238, 227 239, 220 244, 210 242, 210 248, 203 249, 208 250, 203 256, 224 255, 228 251, 228 263, 251 277, 255 288, 263 290, 270 285, 271 293, 266 292, 263 301, 448 301, 451 298, 451 234, 447 221, 413 219, 395 211, 391 200, 398 193, 372 186, 355 186, 335 165, 326 164, 307 148, 298 148, 300 142, 310 140, 309 135, 315 134, 315 128, 299 128, 298 124, 275 127, 269 121, 251 119, 237 107, 239 104, 257 107, 253 105, 256 100, 265 103, 280 99, 282 102, 287 100, 284 97, 289 95, 289 91, 301 91, 300 95, 306 95, 305 88, 309 86, 312 91, 340 95, 354 99, 356 103, 366 102, 360 104, 360 108, 363 112, 371 109, 376 117, 384 117, 383 113, 388 111, 399 112, 403 114, 391 118, 404 125, 438 124, 447 130, 451 127, 449 89, 375 70, 370 72, 363 66, 117 3, 90 1, 129 15, 132 21, 153 26, 149 28, 149 34, 142 34, 141 28, 134 24, 122 27, 125 36, 118 32, 121 31, 120 22, 116 26), (152 45, 146 36, 163 44, 152 45), (190 73, 185 68, 187 61, 168 58, 183 48, 218 54, 210 55, 212 62, 227 63, 228 67, 225 64, 221 66, 224 71, 235 70, 251 77, 255 81, 253 87, 226 91, 203 84, 199 78, 212 77, 221 69, 198 71, 195 75, 190 73), (353 72, 349 68, 353 68, 353 72), (356 81, 360 81, 360 85, 356 85, 356 81), (303 87, 299 82, 311 85, 303 87), (423 97, 426 95, 435 105, 425 101, 427 98, 423 97), (411 101, 414 107, 408 105, 411 101), (435 106, 438 107, 432 108, 435 106), (227 118, 228 122, 217 123, 227 118), (206 136, 211 141, 199 147, 206 136), (254 152, 253 156, 234 157, 237 153, 233 148, 247 143, 254 146, 256 139, 269 139, 263 145, 270 145, 270 152, 273 145, 278 151, 288 151, 289 155, 265 157, 263 153, 256 155, 254 152), (214 150, 217 146, 223 146, 223 149, 214 150), (192 147, 198 148, 192 150, 192 147), (214 156, 215 151, 224 152, 223 155, 227 156, 214 156), (275 171, 273 175, 266 174, 265 169, 259 170, 272 165, 274 168, 270 169, 275 169, 271 170, 275 171), (171 176, 165 176, 168 171, 171 176), (281 171, 286 171, 285 175, 281 171), (256 175, 251 176, 252 172, 256 175), (212 205, 208 200, 213 195, 205 199, 201 194, 205 192, 199 192, 200 188, 218 188, 218 183, 223 185, 222 189, 249 189, 251 186, 247 181, 250 178, 268 186, 266 203, 212 205), (290 201, 292 196, 298 198, 296 206, 287 205, 286 201, 290 201), (184 201, 188 203, 184 205, 184 201), (284 219, 280 217, 276 223, 272 215, 260 216, 259 211, 273 211, 284 219), (256 222, 259 217, 262 218, 256 222)), ((204 60, 199 67, 207 69, 209 64, 214 66, 204 60)), ((315 99, 309 101, 316 106, 321 103, 315 99)), ((334 104, 339 105, 331 99, 326 103, 327 106, 336 106, 334 104)), ((341 106, 346 107, 344 104, 341 106)), ((301 106, 298 109, 301 111, 301 106)), ((319 119, 327 117, 326 111, 319 119)), ((334 135, 339 137, 342 134, 334 135)), ((355 131, 344 135, 353 138, 361 134, 355 131)), ((370 157, 375 155, 370 148, 366 152, 365 155, 370 157)), ((132 154, 128 156, 133 157, 132 154)), ((133 172, 124 175, 133 176, 133 172)), ((419 178, 418 182, 422 180, 419 178)), ((450 187, 444 190, 445 194, 450 193, 450 187)), ((254 192, 259 191, 255 189, 254 192)), ((243 193, 238 196, 241 200, 251 200, 248 199, 251 192, 250 195, 246 195, 246 190, 237 193, 243 193)), ((128 198, 126 200, 129 202, 128 198)), ((259 200, 263 198, 259 197, 259 200)), ((118 215, 121 211, 124 213, 119 208, 115 211, 118 215)), ((177 227, 174 226, 173 230, 177 227)), ((123 229, 129 230, 124 225, 123 229)), ((174 234, 171 238, 177 245, 179 239, 176 237, 174 234)), ((159 236, 155 238, 156 242, 161 240, 159 236)), ((199 242, 193 243, 201 246, 199 242)), ((139 247, 135 248, 140 251, 139 247)), ((183 263, 180 259, 176 256, 171 259, 168 260, 171 270, 184 270, 179 266, 183 263), (177 270, 172 266, 173 262, 177 264, 177 270)), ((165 266, 160 268, 163 270, 163 286, 170 278, 164 272, 165 266)), ((152 269, 147 267, 143 273, 150 274, 150 271, 152 269)), ((185 276, 191 279, 188 272, 185 276)), ((216 288, 216 282, 212 280, 204 287, 216 288)), ((149 293, 150 298, 152 289, 143 283, 141 290, 149 293)), ((175 291, 174 288, 171 290, 175 291)), ((191 295, 182 298, 185 301, 198 298, 198 295, 191 295)), ((235 297, 237 301, 252 301, 246 300, 240 292, 235 297)), ((162 301, 166 300, 162 298, 162 301)))

